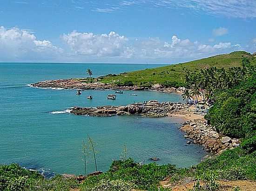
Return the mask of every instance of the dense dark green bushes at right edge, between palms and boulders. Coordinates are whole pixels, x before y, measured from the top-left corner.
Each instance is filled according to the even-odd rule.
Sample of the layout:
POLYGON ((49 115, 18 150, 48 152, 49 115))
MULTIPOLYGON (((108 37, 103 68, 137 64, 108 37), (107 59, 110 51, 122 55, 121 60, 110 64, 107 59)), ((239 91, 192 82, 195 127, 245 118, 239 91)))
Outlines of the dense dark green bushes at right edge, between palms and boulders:
POLYGON ((256 76, 218 93, 205 118, 223 134, 238 138, 253 134, 256 131, 256 76))

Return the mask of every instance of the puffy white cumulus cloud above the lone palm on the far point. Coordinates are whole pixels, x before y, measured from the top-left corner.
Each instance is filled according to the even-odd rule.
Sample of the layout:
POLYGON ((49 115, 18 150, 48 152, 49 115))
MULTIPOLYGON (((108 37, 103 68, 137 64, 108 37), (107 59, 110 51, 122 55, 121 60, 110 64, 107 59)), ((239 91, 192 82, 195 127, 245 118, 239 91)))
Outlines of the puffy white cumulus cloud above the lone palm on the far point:
POLYGON ((93 34, 76 32, 63 35, 63 40, 78 55, 98 57, 131 57, 133 48, 127 45, 128 38, 116 32, 93 34))

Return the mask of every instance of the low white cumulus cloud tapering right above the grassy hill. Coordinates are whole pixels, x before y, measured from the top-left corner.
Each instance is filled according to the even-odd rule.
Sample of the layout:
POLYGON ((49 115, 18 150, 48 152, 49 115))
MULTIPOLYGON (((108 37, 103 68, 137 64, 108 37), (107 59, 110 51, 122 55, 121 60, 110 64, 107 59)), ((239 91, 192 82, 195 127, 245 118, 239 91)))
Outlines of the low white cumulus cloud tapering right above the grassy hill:
POLYGON ((220 42, 216 45, 207 45, 198 41, 191 42, 189 39, 180 39, 172 36, 170 42, 161 41, 159 38, 137 40, 134 45, 135 57, 141 59, 196 59, 210 55, 237 50, 236 45, 230 42, 220 42))

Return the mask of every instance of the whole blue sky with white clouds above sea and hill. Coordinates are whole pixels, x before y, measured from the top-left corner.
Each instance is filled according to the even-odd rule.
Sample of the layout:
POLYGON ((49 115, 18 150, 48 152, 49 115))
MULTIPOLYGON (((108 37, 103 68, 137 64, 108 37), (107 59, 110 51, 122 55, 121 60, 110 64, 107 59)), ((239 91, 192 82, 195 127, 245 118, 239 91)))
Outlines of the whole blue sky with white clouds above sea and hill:
POLYGON ((0 62, 172 64, 256 52, 256 0, 0 0, 0 62))

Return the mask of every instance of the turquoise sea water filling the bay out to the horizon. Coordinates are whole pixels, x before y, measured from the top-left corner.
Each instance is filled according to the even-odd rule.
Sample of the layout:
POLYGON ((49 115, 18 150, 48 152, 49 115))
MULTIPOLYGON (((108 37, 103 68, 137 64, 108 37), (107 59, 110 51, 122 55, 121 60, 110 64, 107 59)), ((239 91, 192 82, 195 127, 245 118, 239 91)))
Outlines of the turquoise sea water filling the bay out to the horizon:
MULTIPOLYGON (((131 91, 107 100, 113 91, 36 89, 27 86, 47 79, 81 77, 86 69, 94 76, 157 67, 151 64, 25 64, 0 63, 0 163, 19 163, 28 168, 55 173, 83 173, 81 143, 89 134, 96 143, 98 169, 108 170, 112 159, 119 159, 124 145, 136 161, 179 167, 200 162, 205 154, 200 146, 186 145, 178 130, 182 120, 137 116, 88 117, 62 113, 73 106, 125 105, 156 99, 182 102, 175 94, 131 91), (93 95, 94 100, 86 97, 93 95), (57 112, 56 112, 57 111, 57 112), (59 113, 59 114, 53 114, 59 113)), ((94 171, 89 156, 88 172, 94 171)))

